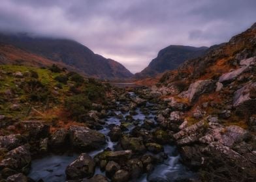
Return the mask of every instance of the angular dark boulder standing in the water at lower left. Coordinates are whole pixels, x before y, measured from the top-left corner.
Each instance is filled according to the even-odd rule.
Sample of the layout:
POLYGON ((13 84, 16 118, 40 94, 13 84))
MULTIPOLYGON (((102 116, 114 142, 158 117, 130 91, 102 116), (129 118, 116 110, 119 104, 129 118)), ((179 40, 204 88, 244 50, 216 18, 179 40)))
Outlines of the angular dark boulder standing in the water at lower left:
POLYGON ((92 177, 95 171, 95 162, 86 153, 79 155, 78 159, 66 168, 67 179, 82 179, 92 177))

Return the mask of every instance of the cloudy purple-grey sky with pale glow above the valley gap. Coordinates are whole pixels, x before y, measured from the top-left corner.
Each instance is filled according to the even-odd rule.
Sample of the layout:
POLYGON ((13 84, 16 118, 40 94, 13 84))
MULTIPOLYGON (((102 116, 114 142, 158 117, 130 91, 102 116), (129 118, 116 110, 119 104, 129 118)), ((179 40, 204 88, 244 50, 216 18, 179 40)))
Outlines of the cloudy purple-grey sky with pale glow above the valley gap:
POLYGON ((132 73, 168 45, 220 44, 255 21, 255 0, 0 1, 0 31, 76 40, 132 73))

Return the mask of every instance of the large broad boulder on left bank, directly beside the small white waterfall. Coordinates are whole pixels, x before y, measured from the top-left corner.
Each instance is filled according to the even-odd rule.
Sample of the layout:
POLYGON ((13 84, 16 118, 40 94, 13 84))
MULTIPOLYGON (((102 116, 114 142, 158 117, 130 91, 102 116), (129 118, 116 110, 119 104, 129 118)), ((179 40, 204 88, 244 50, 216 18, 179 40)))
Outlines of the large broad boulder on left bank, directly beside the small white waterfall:
POLYGON ((88 127, 72 125, 69 127, 69 133, 71 144, 78 149, 99 149, 106 143, 102 133, 88 127))

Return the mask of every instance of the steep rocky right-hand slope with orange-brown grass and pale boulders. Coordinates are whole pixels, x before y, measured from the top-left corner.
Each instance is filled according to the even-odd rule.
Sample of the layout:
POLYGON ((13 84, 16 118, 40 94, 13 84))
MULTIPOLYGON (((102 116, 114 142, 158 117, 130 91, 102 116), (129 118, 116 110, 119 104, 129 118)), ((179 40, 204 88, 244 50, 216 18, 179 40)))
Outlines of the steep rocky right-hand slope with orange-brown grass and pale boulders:
POLYGON ((157 121, 202 181, 256 179, 256 23, 165 73, 150 96, 157 121))

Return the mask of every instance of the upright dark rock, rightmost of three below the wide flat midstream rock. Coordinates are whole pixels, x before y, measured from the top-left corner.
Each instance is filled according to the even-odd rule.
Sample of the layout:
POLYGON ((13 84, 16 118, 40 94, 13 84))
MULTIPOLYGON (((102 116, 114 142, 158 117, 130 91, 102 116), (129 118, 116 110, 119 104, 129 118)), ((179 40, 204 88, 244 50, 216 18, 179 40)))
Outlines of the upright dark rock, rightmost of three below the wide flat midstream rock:
POLYGON ((143 172, 143 164, 138 159, 130 159, 127 161, 127 166, 132 179, 138 179, 143 172))

